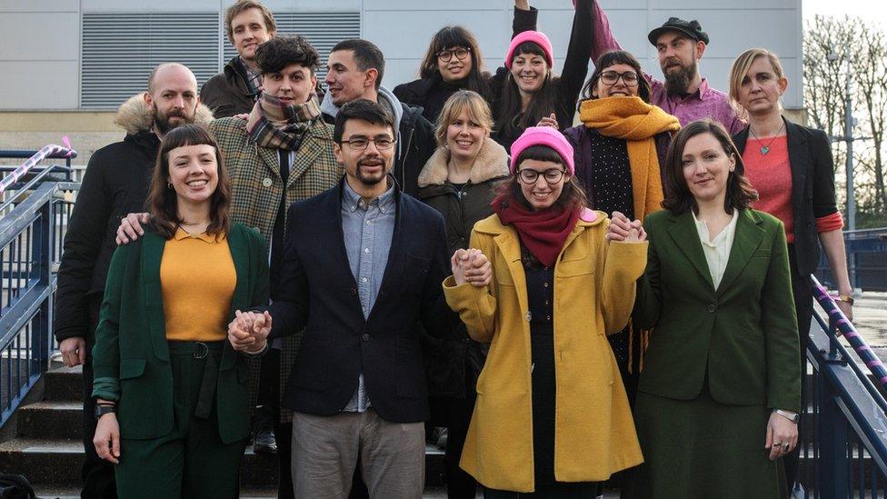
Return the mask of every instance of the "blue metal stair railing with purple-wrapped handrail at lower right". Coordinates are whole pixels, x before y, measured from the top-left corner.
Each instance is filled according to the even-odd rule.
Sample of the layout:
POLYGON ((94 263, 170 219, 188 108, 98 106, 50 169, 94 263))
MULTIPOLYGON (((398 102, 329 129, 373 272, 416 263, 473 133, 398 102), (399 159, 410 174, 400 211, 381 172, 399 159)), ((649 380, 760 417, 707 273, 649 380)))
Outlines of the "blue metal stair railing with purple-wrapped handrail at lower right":
POLYGON ((804 387, 802 469, 796 497, 884 497, 887 484, 887 382, 883 364, 832 297, 812 277, 817 311, 807 336, 812 375, 804 387), (819 314, 819 310, 824 315, 819 314), (824 318, 823 318, 824 317, 824 318), (842 344, 847 336, 852 349, 842 344), (868 364, 873 383, 851 350, 868 364))

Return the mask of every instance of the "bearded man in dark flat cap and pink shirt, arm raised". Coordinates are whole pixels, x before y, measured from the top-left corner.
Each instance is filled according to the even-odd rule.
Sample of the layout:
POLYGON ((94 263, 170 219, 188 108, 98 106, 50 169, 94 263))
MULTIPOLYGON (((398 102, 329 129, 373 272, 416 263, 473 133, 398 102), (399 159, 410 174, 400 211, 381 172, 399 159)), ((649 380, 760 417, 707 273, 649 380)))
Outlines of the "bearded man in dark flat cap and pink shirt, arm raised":
MULTIPOLYGON (((611 50, 622 50, 613 37, 607 15, 597 2, 594 2, 593 34, 593 61, 611 50)), ((662 26, 653 29, 647 39, 659 53, 659 65, 665 76, 663 82, 644 74, 653 90, 651 104, 676 116, 681 125, 700 118, 712 118, 721 122, 731 134, 742 131, 745 125, 736 116, 727 95, 713 89, 699 75, 699 60, 709 39, 698 21, 670 17, 662 26)))

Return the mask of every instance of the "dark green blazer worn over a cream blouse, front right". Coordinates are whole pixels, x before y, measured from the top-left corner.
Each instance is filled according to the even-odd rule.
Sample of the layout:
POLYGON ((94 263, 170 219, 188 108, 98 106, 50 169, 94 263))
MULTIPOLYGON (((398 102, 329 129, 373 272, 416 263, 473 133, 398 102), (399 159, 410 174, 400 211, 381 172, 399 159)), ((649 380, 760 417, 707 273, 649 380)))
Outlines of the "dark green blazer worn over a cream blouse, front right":
POLYGON ((693 214, 653 213, 634 324, 653 329, 639 389, 691 400, 708 387, 721 404, 801 410, 801 352, 782 222, 740 211, 715 290, 693 214))

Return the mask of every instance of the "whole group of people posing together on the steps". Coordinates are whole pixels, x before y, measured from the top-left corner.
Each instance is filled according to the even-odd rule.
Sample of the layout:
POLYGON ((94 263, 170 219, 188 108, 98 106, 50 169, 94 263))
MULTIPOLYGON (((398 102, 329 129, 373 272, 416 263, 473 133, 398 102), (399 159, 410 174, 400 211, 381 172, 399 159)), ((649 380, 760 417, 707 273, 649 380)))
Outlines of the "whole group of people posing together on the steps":
POLYGON ((83 497, 236 497, 252 442, 279 497, 414 499, 432 427, 450 498, 789 494, 820 245, 852 317, 828 139, 771 51, 718 91, 672 17, 660 81, 573 4, 560 75, 528 0, 492 73, 446 26, 392 91, 255 0, 199 92, 154 68, 58 274, 83 497))

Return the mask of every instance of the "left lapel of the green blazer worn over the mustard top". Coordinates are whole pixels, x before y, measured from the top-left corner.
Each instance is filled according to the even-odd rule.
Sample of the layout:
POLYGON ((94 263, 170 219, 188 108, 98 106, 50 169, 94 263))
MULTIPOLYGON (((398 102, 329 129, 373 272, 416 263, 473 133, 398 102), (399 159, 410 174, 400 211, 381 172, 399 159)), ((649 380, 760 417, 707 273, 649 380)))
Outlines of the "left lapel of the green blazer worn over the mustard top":
POLYGON ((145 311, 147 312, 149 343, 154 355, 169 361, 169 346, 166 344, 164 322, 163 290, 160 287, 160 261, 164 257, 166 241, 153 231, 145 231, 142 237, 141 274, 145 286, 143 290, 145 311))

